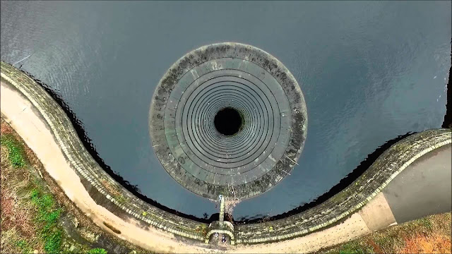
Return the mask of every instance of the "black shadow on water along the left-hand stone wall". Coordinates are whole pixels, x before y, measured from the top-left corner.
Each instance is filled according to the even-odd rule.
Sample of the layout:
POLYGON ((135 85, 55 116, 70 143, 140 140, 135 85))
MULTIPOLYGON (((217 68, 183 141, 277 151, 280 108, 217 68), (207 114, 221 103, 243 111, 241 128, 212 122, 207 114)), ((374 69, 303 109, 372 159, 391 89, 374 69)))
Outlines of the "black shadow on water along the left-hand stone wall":
POLYGON ((198 218, 194 215, 184 214, 182 212, 178 212, 177 210, 171 209, 169 207, 165 207, 165 205, 161 205, 159 202, 156 202, 155 200, 152 200, 152 199, 146 197, 145 195, 141 194, 141 191, 138 188, 138 186, 132 185, 129 181, 127 181, 122 176, 120 176, 117 171, 113 171, 111 169, 111 167, 109 167, 107 164, 105 164, 104 160, 97 153, 97 151, 95 149, 95 145, 93 145, 93 142, 92 142, 93 140, 88 138, 88 135, 86 134, 85 129, 83 128, 82 121, 77 118, 76 114, 69 108, 68 104, 66 104, 66 102, 64 102, 64 99, 61 97, 61 95, 59 95, 59 92, 53 90, 51 87, 49 87, 48 85, 43 83, 41 80, 35 78, 34 75, 28 73, 27 71, 24 71, 21 68, 20 68, 20 71, 23 71, 28 76, 30 76, 30 78, 35 80, 36 83, 40 84, 41 87, 44 88, 44 90, 55 100, 55 102, 57 102, 59 104, 59 106, 64 110, 66 115, 71 120, 73 128, 75 128, 78 138, 80 138, 80 140, 82 141, 83 146, 86 148, 86 150, 88 150, 88 152, 93 157, 93 159, 95 159, 97 164, 99 164, 100 167, 102 167, 102 169, 104 169, 107 172, 107 174, 112 176, 112 178, 115 181, 120 183, 121 186, 123 186, 128 191, 133 193, 133 195, 136 195, 136 197, 140 198, 141 200, 144 200, 145 202, 148 202, 148 204, 153 205, 161 210, 170 212, 172 214, 176 214, 177 216, 184 217, 186 219, 192 219, 196 222, 210 223, 210 222, 213 222, 213 220, 218 219, 218 214, 216 214, 216 217, 215 217, 215 214, 213 214, 212 216, 210 216, 209 219, 207 219, 206 216, 204 218, 198 218))

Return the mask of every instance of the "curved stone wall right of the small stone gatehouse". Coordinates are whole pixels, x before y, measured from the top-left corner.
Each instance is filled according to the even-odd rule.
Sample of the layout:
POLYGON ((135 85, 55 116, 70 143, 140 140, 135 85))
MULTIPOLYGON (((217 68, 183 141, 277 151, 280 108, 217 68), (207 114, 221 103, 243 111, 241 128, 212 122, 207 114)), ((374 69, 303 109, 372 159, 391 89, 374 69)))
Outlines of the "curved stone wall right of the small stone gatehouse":
POLYGON ((262 243, 302 236, 357 212, 403 169, 438 147, 451 143, 450 129, 416 133, 389 147, 350 186, 310 210, 285 219, 235 226, 237 243, 262 243))

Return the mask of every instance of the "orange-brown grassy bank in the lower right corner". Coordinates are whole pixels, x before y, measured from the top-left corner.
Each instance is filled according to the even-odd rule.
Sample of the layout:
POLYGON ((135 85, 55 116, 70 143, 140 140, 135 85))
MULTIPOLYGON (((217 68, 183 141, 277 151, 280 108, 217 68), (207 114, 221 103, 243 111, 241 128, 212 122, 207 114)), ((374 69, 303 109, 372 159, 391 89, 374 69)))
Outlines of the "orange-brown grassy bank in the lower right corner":
POLYGON ((391 226, 322 253, 451 253, 451 212, 391 226))

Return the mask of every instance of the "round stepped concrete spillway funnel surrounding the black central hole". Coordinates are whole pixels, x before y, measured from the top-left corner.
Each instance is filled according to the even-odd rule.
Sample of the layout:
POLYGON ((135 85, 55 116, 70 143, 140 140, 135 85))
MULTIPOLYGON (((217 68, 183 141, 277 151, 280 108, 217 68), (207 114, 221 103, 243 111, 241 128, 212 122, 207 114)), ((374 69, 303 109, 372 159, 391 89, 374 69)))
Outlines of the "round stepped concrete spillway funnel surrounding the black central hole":
POLYGON ((307 134, 297 80, 275 57, 238 43, 210 44, 174 63, 157 85, 149 120, 165 170, 211 199, 267 191, 294 167, 307 134), (240 117, 234 134, 214 124, 223 109, 240 117))

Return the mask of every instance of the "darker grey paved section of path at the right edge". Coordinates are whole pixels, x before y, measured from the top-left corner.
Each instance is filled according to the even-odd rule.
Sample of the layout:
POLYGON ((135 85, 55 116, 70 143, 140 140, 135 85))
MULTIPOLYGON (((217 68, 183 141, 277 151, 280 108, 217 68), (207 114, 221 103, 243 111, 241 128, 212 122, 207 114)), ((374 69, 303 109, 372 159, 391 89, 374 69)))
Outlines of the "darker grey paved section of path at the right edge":
POLYGON ((383 189, 398 223, 452 207, 452 147, 445 145, 424 155, 383 189))

